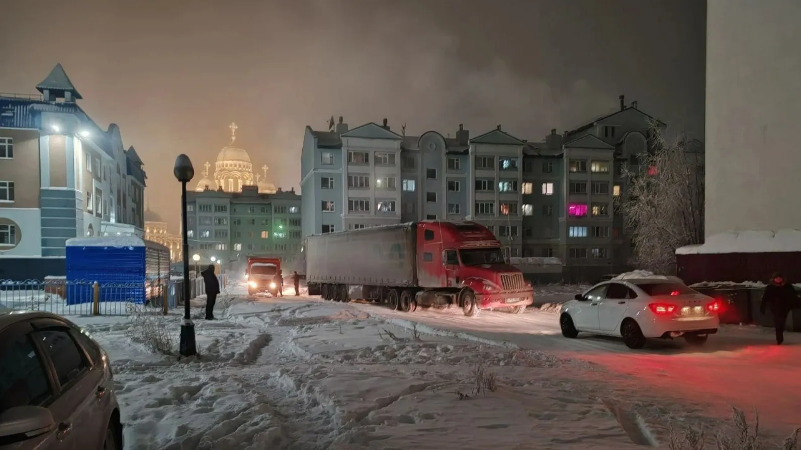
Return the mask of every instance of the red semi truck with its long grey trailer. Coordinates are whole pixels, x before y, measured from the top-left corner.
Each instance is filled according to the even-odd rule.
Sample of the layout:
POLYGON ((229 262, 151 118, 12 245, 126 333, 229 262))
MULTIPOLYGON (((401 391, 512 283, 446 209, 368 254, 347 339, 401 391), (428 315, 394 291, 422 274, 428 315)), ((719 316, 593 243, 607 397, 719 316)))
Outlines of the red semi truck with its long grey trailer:
POLYGON ((312 235, 304 247, 309 293, 348 302, 368 299, 391 309, 461 307, 521 313, 531 284, 505 263, 501 243, 473 222, 426 220, 312 235))

